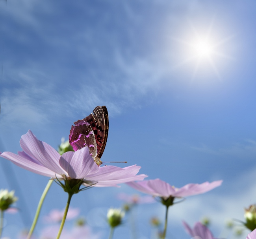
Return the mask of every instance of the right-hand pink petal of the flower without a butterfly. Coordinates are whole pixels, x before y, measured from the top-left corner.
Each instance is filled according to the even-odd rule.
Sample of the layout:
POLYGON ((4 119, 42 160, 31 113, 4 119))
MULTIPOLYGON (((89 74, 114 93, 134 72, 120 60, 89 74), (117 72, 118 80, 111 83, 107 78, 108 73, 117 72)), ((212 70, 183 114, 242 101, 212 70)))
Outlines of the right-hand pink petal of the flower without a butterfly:
POLYGON ((202 184, 194 184, 194 183, 189 183, 182 188, 178 189, 175 193, 173 193, 174 197, 187 197, 191 195, 197 195, 200 193, 205 193, 213 188, 216 188, 218 186, 221 186, 221 183, 223 181, 213 181, 213 182, 204 182, 202 184))

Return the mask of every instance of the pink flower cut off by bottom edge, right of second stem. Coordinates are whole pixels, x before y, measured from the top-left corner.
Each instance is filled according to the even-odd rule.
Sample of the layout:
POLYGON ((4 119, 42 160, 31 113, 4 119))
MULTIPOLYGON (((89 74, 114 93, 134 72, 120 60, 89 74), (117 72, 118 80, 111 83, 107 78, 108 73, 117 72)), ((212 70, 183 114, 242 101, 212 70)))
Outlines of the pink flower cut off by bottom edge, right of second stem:
POLYGON ((189 227, 189 225, 187 223, 185 223, 184 221, 182 223, 185 227, 185 230, 186 230, 187 234, 191 235, 191 237, 195 237, 195 238, 198 238, 198 239, 199 238, 202 238, 202 239, 217 239, 217 238, 213 237, 210 230, 200 222, 197 222, 193 229, 191 229, 189 227))

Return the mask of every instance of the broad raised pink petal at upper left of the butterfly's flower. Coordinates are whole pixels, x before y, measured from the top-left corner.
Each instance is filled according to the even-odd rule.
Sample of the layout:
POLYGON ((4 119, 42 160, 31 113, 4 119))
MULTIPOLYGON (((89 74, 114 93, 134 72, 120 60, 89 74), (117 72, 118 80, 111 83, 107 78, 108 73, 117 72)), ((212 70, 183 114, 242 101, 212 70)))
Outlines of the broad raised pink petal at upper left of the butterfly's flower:
POLYGON ((59 166, 60 154, 49 144, 38 140, 32 131, 21 136, 20 146, 33 159, 37 159, 46 168, 58 174, 65 174, 59 166))

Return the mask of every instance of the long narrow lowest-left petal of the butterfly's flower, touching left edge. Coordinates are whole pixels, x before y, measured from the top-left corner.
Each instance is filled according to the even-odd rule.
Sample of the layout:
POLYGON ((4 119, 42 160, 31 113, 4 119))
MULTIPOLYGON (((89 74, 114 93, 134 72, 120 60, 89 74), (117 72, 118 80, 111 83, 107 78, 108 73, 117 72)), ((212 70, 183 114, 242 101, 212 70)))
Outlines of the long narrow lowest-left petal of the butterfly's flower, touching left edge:
POLYGON ((30 161, 27 158, 21 157, 20 155, 17 155, 15 153, 4 152, 0 156, 5 159, 8 159, 9 161, 19 166, 20 168, 24 168, 33 173, 55 178, 55 173, 50 169, 46 168, 45 166, 39 165, 33 161, 30 161))

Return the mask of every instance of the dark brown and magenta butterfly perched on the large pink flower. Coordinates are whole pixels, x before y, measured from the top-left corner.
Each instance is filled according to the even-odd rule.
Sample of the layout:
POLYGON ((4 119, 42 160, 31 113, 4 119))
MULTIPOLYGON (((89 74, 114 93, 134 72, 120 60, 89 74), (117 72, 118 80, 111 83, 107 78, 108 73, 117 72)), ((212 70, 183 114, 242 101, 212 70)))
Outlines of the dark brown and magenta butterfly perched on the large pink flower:
POLYGON ((93 113, 74 122, 69 134, 69 143, 74 151, 89 147, 89 152, 98 166, 108 139, 108 110, 97 106, 93 113))

